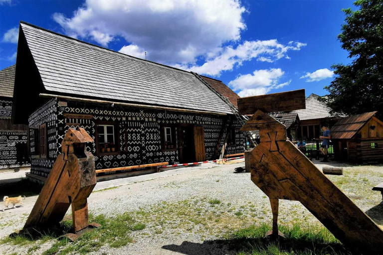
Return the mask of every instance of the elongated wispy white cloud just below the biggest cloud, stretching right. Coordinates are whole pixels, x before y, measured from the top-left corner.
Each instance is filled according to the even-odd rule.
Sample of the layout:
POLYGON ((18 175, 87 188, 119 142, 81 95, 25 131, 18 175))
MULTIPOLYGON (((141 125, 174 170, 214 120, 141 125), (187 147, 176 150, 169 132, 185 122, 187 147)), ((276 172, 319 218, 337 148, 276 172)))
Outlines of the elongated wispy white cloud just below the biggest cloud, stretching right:
POLYGON ((219 76, 222 71, 232 70, 244 61, 257 59, 263 62, 274 62, 286 56, 289 50, 300 50, 305 43, 289 42, 287 45, 279 43, 276 39, 245 41, 235 49, 232 46, 222 47, 213 58, 206 58, 202 65, 175 65, 178 68, 194 71, 200 74, 219 76), (267 56, 267 57, 266 57, 267 56))

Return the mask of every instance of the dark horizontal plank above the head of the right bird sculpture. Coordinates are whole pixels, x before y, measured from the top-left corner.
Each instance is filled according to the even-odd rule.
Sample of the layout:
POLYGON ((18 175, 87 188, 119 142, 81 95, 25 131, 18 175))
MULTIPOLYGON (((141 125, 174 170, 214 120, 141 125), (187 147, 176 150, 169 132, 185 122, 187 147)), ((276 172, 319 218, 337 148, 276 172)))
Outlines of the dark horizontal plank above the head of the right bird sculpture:
POLYGON ((257 110, 262 110, 264 113, 272 113, 306 109, 304 89, 238 98, 237 102, 240 115, 254 114, 257 110))

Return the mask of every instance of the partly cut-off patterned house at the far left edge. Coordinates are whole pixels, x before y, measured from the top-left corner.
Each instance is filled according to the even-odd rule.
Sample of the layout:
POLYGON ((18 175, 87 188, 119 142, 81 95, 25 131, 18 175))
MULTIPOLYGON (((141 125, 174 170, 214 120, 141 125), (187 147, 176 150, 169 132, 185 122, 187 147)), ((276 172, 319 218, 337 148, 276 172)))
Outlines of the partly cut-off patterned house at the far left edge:
POLYGON ((0 70, 0 169, 29 166, 27 126, 12 125, 15 65, 0 70))

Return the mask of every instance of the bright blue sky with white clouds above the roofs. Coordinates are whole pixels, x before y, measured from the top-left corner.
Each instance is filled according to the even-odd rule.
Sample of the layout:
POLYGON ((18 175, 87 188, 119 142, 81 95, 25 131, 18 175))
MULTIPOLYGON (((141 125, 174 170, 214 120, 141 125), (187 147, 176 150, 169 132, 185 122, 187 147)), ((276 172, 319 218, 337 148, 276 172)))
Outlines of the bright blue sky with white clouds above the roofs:
POLYGON ((0 0, 0 69, 15 63, 20 20, 212 76, 240 96, 325 95, 349 63, 337 35, 353 0, 0 0), (16 29, 14 29, 16 28, 16 29))

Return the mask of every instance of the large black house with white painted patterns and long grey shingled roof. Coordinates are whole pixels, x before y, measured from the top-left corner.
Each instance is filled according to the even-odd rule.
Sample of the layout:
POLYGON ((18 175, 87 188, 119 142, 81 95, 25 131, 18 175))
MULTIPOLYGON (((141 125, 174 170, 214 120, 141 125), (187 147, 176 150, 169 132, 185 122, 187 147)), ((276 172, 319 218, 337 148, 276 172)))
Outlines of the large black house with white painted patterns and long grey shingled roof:
MULTIPOLYGON (((96 169, 184 163, 244 151, 245 133, 218 80, 20 22, 17 124, 29 126, 31 173, 46 177, 68 128, 94 142, 96 169), (18 102, 28 102, 27 106, 18 102)), ((228 95, 230 94, 230 95, 228 95)))

